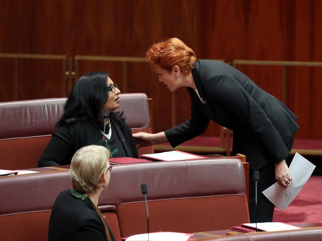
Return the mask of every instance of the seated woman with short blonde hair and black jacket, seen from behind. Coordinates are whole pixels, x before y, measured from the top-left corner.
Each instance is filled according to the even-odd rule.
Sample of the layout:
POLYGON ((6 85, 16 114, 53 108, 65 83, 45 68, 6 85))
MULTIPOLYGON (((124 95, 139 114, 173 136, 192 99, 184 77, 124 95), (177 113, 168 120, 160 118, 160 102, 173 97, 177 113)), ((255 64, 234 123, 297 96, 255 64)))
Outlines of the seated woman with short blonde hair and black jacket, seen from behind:
POLYGON ((49 220, 48 240, 114 241, 114 236, 97 208, 101 192, 108 186, 112 165, 109 150, 86 146, 71 160, 73 189, 61 192, 49 220))

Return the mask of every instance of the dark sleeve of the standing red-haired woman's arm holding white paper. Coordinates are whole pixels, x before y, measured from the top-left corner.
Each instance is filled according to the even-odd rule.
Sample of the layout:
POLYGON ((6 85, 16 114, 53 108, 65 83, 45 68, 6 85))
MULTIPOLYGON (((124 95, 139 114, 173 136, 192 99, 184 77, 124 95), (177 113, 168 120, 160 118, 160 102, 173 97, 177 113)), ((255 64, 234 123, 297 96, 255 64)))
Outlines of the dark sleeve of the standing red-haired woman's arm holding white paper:
POLYGON ((274 157, 274 162, 279 162, 288 156, 289 150, 269 116, 240 83, 232 76, 213 76, 212 79, 208 81, 214 83, 208 85, 209 91, 214 93, 212 97, 249 125, 258 140, 274 157))

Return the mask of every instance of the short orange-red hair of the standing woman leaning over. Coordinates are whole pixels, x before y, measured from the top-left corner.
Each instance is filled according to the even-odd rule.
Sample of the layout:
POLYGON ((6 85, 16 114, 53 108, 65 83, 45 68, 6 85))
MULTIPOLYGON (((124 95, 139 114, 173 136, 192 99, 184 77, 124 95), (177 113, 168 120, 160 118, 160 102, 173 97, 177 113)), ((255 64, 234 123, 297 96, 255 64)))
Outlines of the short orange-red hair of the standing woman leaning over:
POLYGON ((158 64, 169 71, 177 65, 185 75, 188 75, 194 68, 196 54, 181 40, 171 38, 153 44, 147 50, 146 58, 149 63, 158 64))

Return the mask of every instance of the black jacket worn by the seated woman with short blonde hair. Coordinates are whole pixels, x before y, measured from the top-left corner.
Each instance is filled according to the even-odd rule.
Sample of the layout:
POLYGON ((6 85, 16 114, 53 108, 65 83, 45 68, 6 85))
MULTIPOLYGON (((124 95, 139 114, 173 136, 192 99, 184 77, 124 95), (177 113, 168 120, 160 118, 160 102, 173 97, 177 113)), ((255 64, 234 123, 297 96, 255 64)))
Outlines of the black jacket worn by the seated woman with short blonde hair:
MULTIPOLYGON (((109 226, 108 226, 109 228, 109 226)), ((114 236, 109 228, 112 240, 114 236)), ((71 190, 61 192, 49 219, 49 241, 107 241, 104 224, 90 203, 76 198, 71 190)))

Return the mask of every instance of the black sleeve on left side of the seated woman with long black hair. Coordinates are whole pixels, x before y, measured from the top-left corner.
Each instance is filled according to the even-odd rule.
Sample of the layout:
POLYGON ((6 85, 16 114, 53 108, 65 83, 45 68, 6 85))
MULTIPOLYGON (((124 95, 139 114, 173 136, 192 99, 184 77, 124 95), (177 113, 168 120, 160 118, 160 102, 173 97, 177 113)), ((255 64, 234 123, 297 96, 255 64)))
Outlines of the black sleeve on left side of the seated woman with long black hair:
POLYGON ((69 158, 74 149, 71 132, 68 125, 63 125, 52 134, 51 140, 38 161, 38 167, 64 165, 64 160, 69 158))

